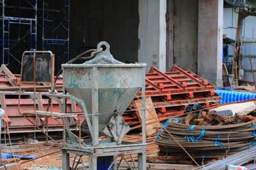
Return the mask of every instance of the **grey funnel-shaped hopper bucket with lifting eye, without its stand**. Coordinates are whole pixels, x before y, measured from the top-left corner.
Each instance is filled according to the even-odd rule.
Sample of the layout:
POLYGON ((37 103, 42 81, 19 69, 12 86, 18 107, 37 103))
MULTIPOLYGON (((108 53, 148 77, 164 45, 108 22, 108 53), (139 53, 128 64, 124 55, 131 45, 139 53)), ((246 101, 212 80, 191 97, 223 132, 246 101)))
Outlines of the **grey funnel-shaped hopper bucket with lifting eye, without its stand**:
POLYGON ((97 114, 95 107, 99 105, 99 134, 115 137, 115 131, 123 136, 130 128, 122 113, 145 83, 146 64, 124 64, 113 59, 106 42, 100 42, 97 50, 94 59, 84 64, 62 64, 63 85, 69 94, 84 101, 89 115, 97 114), (106 50, 99 52, 102 46, 106 50))

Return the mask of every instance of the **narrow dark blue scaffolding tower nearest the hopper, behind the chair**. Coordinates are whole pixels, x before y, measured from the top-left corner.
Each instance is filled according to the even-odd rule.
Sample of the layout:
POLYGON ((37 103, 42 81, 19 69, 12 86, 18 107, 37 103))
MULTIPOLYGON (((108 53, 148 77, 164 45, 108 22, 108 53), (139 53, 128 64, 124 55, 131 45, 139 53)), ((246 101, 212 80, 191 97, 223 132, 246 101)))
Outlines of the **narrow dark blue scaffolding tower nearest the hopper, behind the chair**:
POLYGON ((70 27, 70 0, 63 0, 63 4, 56 1, 43 1, 43 19, 42 19, 42 50, 52 50, 55 56, 61 59, 61 62, 69 60, 69 27, 70 27), (58 3, 61 10, 57 13, 50 9, 54 8, 54 3, 58 3), (45 24, 51 23, 51 34, 45 34, 45 24), (61 36, 58 31, 62 29, 61 36), (65 32, 63 32, 63 30, 65 32))

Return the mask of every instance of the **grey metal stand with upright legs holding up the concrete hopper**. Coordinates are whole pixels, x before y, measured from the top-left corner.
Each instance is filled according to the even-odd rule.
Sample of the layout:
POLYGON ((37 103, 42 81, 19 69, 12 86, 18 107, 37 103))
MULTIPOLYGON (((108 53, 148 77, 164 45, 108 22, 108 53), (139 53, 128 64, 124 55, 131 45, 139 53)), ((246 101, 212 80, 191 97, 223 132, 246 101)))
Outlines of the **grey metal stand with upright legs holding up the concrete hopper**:
MULTIPOLYGON (((95 71, 97 72, 97 71, 95 71)), ((94 74, 95 81, 97 81, 97 75, 94 74)), ((95 116, 92 117, 92 147, 88 148, 86 146, 82 146, 82 148, 77 145, 74 146, 72 144, 64 143, 62 148, 62 156, 63 156, 63 169, 69 168, 69 153, 77 154, 77 155, 88 155, 88 162, 89 162, 89 169, 97 170, 97 157, 106 157, 106 156, 113 156, 114 163, 113 169, 116 169, 115 162, 116 162, 116 155, 129 155, 132 153, 138 153, 138 169, 145 170, 146 169, 146 133, 145 133, 145 84, 142 87, 142 94, 141 94, 141 102, 143 103, 142 108, 142 139, 143 142, 136 144, 136 143, 125 143, 123 142, 121 145, 115 146, 104 146, 102 143, 99 143, 99 117, 97 113, 99 113, 99 90, 93 89, 92 91, 92 108, 93 114, 95 116), (90 149, 90 150, 89 150, 90 149)), ((65 132, 63 133, 65 136, 63 141, 66 141, 65 132)))

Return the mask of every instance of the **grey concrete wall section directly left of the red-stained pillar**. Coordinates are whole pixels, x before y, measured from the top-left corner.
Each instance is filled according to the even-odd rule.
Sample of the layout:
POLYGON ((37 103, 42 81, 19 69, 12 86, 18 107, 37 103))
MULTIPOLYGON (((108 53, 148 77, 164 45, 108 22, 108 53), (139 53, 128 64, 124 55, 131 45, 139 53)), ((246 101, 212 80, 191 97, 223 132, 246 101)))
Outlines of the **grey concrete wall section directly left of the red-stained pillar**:
POLYGON ((173 64, 197 72, 198 0, 173 3, 173 64))

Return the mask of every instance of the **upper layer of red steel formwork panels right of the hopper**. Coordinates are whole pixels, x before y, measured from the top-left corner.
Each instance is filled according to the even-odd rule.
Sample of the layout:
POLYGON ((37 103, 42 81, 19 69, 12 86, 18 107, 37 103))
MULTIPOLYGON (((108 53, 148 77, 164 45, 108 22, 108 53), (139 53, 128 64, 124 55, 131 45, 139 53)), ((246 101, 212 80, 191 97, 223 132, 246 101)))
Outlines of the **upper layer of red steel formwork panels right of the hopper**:
MULTIPOLYGON (((166 96, 172 99, 175 94, 188 94, 193 97, 195 92, 210 92, 214 96, 215 87, 189 69, 182 70, 173 66, 172 71, 163 73, 151 67, 146 74, 146 96, 166 96)), ((138 94, 140 96, 141 93, 138 94)))

